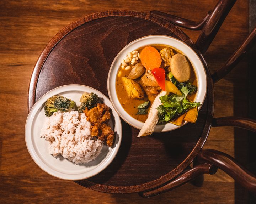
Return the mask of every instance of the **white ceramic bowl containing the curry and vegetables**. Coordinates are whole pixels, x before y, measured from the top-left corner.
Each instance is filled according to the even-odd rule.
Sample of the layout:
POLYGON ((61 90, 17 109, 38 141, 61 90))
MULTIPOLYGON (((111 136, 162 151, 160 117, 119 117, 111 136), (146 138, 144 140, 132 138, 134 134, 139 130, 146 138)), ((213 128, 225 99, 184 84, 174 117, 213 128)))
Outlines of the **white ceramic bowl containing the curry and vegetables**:
MULTIPOLYGON (((128 124, 130 124, 131 126, 137 129, 141 129, 144 123, 134 119, 123 109, 116 94, 116 77, 117 77, 119 66, 121 64, 121 60, 127 55, 128 52, 137 50, 140 47, 154 45, 154 44, 169 45, 183 52, 183 54, 190 60, 196 72, 198 90, 197 90, 196 98, 194 101, 201 102, 201 106, 198 109, 202 107, 202 104, 206 97, 206 91, 207 91, 206 72, 204 70, 203 63, 201 62, 199 56, 190 46, 188 46, 181 40, 172 38, 170 36, 165 36, 165 35, 149 35, 149 36, 145 36, 137 40, 134 40, 133 42, 130 42, 128 45, 126 45, 118 53, 116 58, 114 58, 114 61, 111 64, 110 71, 108 73, 107 86, 108 86, 108 96, 110 97, 113 107, 114 109, 116 109, 118 115, 128 124)), ((186 124, 186 122, 184 124, 186 124)), ((166 131, 171 131, 180 127, 181 126, 167 123, 164 125, 157 125, 154 132, 166 132, 166 131)))

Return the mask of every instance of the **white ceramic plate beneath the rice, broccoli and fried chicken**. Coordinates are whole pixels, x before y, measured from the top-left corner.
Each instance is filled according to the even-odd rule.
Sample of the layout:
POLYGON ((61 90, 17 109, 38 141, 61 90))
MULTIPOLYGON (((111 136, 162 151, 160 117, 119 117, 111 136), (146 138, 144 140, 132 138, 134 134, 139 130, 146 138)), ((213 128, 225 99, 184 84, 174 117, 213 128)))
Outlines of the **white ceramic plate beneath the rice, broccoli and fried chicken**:
POLYGON ((105 169, 116 156, 122 139, 122 125, 117 112, 114 110, 110 100, 88 86, 83 85, 65 85, 57 87, 44 94, 32 107, 28 114, 25 126, 25 140, 28 152, 34 162, 48 174, 65 180, 81 180, 92 177, 105 169), (62 156, 53 157, 48 152, 49 142, 40 138, 39 134, 46 119, 44 115, 44 103, 49 97, 62 95, 68 97, 80 105, 79 99, 84 92, 94 92, 100 100, 112 110, 110 125, 114 126, 115 137, 113 146, 104 145, 100 155, 87 164, 75 165, 62 156))

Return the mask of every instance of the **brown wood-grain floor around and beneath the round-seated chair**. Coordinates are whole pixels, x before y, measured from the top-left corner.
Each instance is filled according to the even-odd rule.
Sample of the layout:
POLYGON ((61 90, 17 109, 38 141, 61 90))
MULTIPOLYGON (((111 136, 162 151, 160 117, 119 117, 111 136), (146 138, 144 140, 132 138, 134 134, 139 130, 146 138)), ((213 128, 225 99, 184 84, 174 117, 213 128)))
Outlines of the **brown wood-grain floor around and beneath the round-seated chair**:
MULTIPOLYGON (((0 203, 247 203, 248 193, 221 170, 205 176, 203 187, 191 184, 150 199, 138 194, 105 194, 56 179, 33 162, 24 140, 27 92, 36 60, 63 27, 90 13, 109 9, 159 10, 199 20, 216 1, 2 1, 0 3, 0 203), (197 5, 197 6, 194 6, 197 5), (7 114, 8 113, 8 114, 7 114), (79 199, 77 198, 79 197, 79 199)), ((238 1, 205 55, 211 70, 219 68, 248 34, 248 2, 238 1), (239 18, 239 20, 238 20, 239 18)), ((182 29, 192 40, 199 32, 182 29)), ((215 117, 248 115, 245 58, 215 84, 215 117)), ((247 131, 212 128, 204 148, 214 148, 248 164, 247 131)))

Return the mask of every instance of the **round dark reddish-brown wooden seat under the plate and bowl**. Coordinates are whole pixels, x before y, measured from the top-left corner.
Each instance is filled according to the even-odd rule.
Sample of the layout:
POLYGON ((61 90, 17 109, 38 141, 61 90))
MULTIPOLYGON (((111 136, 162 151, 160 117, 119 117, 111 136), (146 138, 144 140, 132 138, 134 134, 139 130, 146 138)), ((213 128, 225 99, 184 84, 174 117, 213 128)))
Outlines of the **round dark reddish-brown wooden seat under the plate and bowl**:
POLYGON ((142 192, 180 174, 196 157, 210 130, 214 95, 210 72, 192 40, 164 19, 146 12, 113 10, 94 13, 71 23, 46 46, 34 67, 28 108, 46 92, 66 84, 91 86, 108 96, 107 76, 117 53, 147 35, 169 35, 199 55, 207 72, 208 92, 196 124, 137 138, 139 130, 122 121, 122 143, 113 162, 100 174, 76 181, 109 193, 142 192))

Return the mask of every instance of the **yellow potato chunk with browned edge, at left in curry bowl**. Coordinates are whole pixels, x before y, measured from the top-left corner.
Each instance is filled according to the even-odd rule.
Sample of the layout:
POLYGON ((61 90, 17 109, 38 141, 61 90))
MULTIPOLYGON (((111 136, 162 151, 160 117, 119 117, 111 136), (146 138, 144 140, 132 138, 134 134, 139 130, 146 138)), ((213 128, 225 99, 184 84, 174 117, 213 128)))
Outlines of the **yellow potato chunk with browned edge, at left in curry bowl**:
POLYGON ((122 77, 121 79, 128 98, 144 98, 144 92, 136 81, 129 79, 128 77, 122 77))

